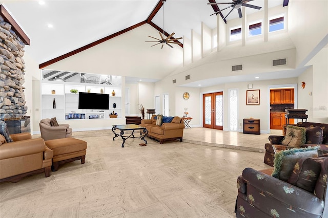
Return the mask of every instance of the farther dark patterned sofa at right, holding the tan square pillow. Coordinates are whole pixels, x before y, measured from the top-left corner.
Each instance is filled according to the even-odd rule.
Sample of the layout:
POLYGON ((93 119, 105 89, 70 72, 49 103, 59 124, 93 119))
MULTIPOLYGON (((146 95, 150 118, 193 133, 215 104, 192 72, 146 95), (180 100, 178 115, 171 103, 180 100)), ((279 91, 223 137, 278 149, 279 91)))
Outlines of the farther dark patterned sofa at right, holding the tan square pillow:
MULTIPOLYGON (((311 138, 316 137, 316 130, 314 131, 307 131, 306 132, 306 142, 301 147, 308 147, 308 146, 320 146, 320 150, 328 150, 328 124, 327 123, 314 123, 314 122, 299 122, 297 123, 299 127, 315 127, 320 126, 322 128, 322 142, 320 144, 313 143, 311 138)), ((282 145, 281 141, 283 140, 284 136, 269 136, 270 143, 264 145, 265 148, 265 155, 264 155, 264 163, 270 166, 273 166, 273 159, 274 159, 274 150, 272 145, 282 145)), ((282 145, 284 146, 284 145, 282 145)))

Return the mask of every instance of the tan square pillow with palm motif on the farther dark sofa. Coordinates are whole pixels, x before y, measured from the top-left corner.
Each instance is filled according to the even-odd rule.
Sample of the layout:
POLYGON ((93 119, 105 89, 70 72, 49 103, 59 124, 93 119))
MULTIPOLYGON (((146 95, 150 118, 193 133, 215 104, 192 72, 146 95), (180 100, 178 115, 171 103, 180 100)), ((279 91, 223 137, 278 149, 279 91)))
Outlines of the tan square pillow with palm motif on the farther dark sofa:
POLYGON ((301 147, 305 143, 305 127, 288 125, 286 135, 283 137, 281 144, 291 147, 301 147))

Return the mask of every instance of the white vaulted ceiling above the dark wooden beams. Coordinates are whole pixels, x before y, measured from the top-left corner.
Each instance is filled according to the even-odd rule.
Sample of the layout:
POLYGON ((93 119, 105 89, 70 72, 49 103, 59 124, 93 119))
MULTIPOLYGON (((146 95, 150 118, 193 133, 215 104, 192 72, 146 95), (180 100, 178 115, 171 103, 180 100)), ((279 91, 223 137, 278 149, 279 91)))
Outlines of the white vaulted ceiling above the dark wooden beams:
MULTIPOLYGON (((166 32, 175 32, 174 37, 191 38, 192 30, 200 34, 201 23, 210 28, 216 27, 216 15, 206 0, 167 0, 165 8, 159 9, 152 22, 166 32), (163 19, 164 18, 164 19, 163 19)), ((216 0, 217 3, 231 0, 216 0)), ((25 50, 38 64, 81 48, 96 40, 145 21, 158 4, 158 0, 103 0, 103 1, 2 1, 2 4, 31 39, 25 50), (53 25, 49 28, 48 25, 53 25)), ((269 8, 281 5, 283 0, 269 0, 269 8)), ((254 0, 251 5, 262 7, 264 0, 254 0)), ((223 9, 229 5, 219 5, 223 9)), ((258 10, 246 8, 251 14, 258 10)), ((230 9, 222 11, 226 16, 230 9)), ((231 12, 227 22, 238 18, 237 10, 231 12)), ((153 33, 149 33, 153 34, 153 33)), ((152 35, 159 37, 159 35, 152 35)), ((144 42, 150 48, 153 43, 144 42)), ((183 42, 180 40, 180 42, 183 42)), ((174 52, 173 51, 171 52, 174 52)), ((138 52, 138 51, 134 51, 138 52)), ((152 48, 154 56, 163 51, 152 48)), ((181 50, 179 51, 181 52, 181 50)), ((165 60, 161 60, 165 61, 165 60)), ((181 60, 182 63, 183 60, 181 60)), ((172 71, 171 68, 168 70, 172 71)), ((170 74, 167 72, 166 75, 170 74)), ((151 75, 150 75, 151 78, 151 75)), ((158 79, 158 75, 156 75, 158 79)))

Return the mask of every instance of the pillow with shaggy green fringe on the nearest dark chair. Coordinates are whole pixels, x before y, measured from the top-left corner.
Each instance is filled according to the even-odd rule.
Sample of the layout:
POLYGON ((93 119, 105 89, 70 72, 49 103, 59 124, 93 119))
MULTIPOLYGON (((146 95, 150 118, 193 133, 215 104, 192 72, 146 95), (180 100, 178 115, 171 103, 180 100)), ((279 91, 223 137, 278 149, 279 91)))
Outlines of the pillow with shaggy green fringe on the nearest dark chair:
POLYGON ((305 147, 305 148, 292 148, 289 150, 282 150, 275 154, 274 164, 275 167, 272 176, 287 181, 296 162, 301 158, 315 158, 318 157, 318 149, 320 146, 305 147))

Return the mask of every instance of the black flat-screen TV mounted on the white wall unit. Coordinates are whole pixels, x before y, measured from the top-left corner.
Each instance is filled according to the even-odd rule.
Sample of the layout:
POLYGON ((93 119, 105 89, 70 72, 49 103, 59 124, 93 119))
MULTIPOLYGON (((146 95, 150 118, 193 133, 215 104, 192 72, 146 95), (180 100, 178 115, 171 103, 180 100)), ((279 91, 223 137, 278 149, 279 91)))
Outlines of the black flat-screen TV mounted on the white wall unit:
POLYGON ((93 109, 93 110, 108 110, 109 109, 109 95, 79 92, 78 93, 78 108, 79 109, 93 109))

